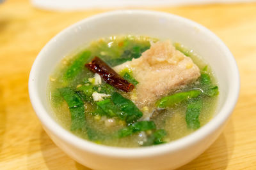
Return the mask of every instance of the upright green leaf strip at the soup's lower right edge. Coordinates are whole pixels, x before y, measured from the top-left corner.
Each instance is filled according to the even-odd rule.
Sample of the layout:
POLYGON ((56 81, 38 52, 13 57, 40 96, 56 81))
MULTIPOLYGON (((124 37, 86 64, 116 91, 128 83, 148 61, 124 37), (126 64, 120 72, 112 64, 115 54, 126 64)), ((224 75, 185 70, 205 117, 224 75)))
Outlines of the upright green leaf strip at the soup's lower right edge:
POLYGON ((202 100, 191 100, 186 111, 186 123, 189 129, 198 129, 200 127, 199 115, 202 109, 202 100))

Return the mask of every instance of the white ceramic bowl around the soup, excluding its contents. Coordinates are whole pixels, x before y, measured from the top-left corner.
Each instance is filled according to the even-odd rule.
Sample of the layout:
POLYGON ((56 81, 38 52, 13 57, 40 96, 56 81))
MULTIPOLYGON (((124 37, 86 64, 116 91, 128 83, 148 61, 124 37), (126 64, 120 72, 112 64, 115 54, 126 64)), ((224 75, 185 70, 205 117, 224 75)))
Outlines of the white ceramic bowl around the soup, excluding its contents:
POLYGON ((61 31, 36 57, 29 76, 29 96, 36 115, 63 152, 93 169, 174 169, 195 159, 221 133, 239 95, 239 72, 227 46, 211 31, 186 18, 156 11, 125 10, 86 18, 61 31), (189 136, 164 145, 116 148, 78 138, 52 116, 47 100, 49 74, 63 56, 90 41, 118 34, 171 39, 195 50, 212 67, 220 99, 212 120, 189 136))

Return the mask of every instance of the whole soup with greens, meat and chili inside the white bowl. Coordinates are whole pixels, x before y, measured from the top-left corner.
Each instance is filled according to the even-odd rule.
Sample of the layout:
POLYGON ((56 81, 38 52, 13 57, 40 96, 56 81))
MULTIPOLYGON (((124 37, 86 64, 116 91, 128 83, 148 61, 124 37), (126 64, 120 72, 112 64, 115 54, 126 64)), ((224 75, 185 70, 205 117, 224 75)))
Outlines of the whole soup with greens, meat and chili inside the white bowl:
POLYGON ((216 79, 204 60, 170 40, 111 36, 61 60, 49 78, 56 120, 101 145, 168 143, 214 115, 216 79))

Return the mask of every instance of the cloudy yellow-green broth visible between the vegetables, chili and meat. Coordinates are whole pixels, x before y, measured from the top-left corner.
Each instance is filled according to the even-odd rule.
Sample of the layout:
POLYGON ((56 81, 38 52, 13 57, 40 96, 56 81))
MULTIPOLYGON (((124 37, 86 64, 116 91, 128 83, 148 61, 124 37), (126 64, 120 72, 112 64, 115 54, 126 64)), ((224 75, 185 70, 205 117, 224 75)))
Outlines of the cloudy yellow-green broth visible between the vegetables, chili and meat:
MULTIPOLYGON (((81 52, 74 54, 72 53, 71 55, 64 57, 49 77, 48 83, 49 102, 51 103, 56 120, 65 129, 70 131, 72 124, 70 118, 70 110, 68 109, 67 103, 58 92, 58 89, 67 86, 73 89, 77 89, 81 87, 81 85, 88 83, 86 82, 88 78, 93 78, 95 76, 95 74, 83 67, 73 80, 65 80, 65 78, 63 78, 63 73, 67 72, 68 67, 71 66, 77 57, 80 56, 79 54, 86 51, 90 52, 90 56, 86 59, 84 64, 90 62, 93 57, 98 56, 109 66, 114 67, 124 62, 121 59, 122 56, 124 57, 124 55, 128 57, 140 57, 141 53, 150 48, 150 43, 154 43, 156 41, 158 41, 158 39, 148 38, 146 36, 111 36, 110 38, 102 38, 93 41, 81 52)), ((216 78, 214 78, 214 73, 211 71, 211 67, 207 66, 202 57, 196 55, 193 50, 187 50, 179 43, 173 43, 173 45, 177 50, 180 50, 185 55, 191 57, 193 62, 200 68, 201 72, 205 71, 205 73, 209 74, 212 84, 217 83, 216 78)), ((102 80, 102 85, 105 84, 106 82, 102 80)), ((200 88, 199 80, 196 80, 194 83, 190 83, 185 87, 180 87, 180 89, 175 90, 175 92, 170 94, 200 88)), ((132 92, 126 93, 116 89, 115 91, 122 94, 122 96, 131 99, 132 92)), ((209 122, 209 120, 211 120, 212 116, 214 115, 218 96, 200 96, 199 98, 202 100, 202 110, 200 111, 199 115, 200 127, 202 127, 207 124, 207 122, 209 122)), ((164 129, 166 131, 166 136, 164 136, 163 141, 170 142, 196 131, 196 129, 189 129, 186 123, 186 110, 188 103, 189 101, 184 101, 164 110, 158 110, 156 109, 156 106, 151 105, 149 107, 152 108, 143 108, 141 111, 143 113, 148 110, 154 111, 150 120, 154 121, 156 124, 156 129, 164 129)), ((148 136, 152 134, 152 131, 141 131, 125 138, 118 138, 116 137, 116 132, 127 127, 127 124, 124 122, 124 120, 120 120, 116 117, 110 118, 104 115, 98 115, 97 113, 93 112, 93 104, 90 102, 84 103, 84 108, 86 110, 86 125, 90 127, 89 130, 83 129, 72 131, 72 133, 76 134, 80 138, 88 139, 102 145, 139 147, 143 146, 143 144, 146 143, 148 136), (88 138, 88 133, 93 133, 95 135, 93 139, 88 138)))

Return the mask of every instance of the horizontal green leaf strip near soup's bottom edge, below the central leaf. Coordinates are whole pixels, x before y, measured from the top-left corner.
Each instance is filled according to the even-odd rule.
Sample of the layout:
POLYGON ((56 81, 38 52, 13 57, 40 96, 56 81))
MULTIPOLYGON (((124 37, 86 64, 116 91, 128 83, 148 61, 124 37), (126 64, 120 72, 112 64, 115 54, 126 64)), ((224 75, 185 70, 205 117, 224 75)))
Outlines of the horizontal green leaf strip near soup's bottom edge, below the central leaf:
POLYGON ((118 138, 124 138, 136 132, 148 131, 152 129, 156 129, 156 124, 153 121, 136 122, 134 124, 129 125, 129 127, 120 129, 118 131, 118 138))

